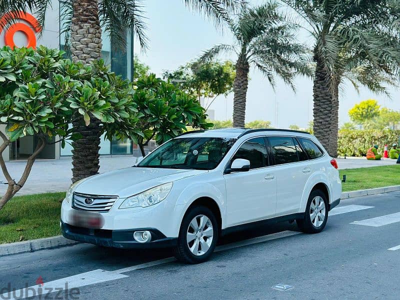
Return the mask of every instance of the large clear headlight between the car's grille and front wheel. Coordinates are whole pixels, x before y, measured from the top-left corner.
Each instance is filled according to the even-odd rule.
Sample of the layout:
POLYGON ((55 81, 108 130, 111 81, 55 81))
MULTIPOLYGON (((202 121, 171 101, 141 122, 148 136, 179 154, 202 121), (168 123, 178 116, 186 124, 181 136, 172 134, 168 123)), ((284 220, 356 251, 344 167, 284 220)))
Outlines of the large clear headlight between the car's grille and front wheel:
POLYGON ((172 188, 172 182, 164 183, 126 198, 119 208, 147 207, 161 202, 172 188))

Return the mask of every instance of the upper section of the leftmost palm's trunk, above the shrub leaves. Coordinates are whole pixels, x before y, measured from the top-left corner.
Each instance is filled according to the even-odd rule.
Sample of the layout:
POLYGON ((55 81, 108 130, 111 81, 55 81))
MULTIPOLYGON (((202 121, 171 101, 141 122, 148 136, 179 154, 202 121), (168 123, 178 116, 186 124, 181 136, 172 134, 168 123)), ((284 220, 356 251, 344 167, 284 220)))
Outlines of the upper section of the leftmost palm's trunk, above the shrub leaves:
POLYGON ((73 0, 72 7, 72 60, 89 64, 101 56, 101 27, 97 0, 73 0))

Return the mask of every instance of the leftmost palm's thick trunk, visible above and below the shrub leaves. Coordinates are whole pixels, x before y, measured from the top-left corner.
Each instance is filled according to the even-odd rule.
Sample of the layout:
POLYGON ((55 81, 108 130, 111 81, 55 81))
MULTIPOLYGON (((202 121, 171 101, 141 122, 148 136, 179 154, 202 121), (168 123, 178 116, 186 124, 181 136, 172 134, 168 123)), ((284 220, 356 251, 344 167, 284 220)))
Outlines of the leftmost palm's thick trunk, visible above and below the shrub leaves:
MULTIPOLYGON (((73 0, 71 22, 72 60, 89 64, 101 56, 101 27, 98 18, 97 0, 73 0)), ((100 121, 90 117, 86 126, 81 119, 72 122, 82 138, 73 141, 72 182, 98 173, 100 121)))

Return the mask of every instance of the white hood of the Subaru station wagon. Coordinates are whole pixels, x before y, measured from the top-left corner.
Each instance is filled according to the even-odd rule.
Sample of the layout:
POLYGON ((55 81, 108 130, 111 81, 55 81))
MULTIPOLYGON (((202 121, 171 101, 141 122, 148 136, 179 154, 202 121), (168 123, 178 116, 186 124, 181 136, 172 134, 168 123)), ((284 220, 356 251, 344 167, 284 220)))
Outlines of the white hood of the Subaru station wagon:
POLYGON ((73 191, 92 195, 117 195, 125 198, 162 183, 206 172, 207 170, 126 167, 88 177, 78 183, 73 191))

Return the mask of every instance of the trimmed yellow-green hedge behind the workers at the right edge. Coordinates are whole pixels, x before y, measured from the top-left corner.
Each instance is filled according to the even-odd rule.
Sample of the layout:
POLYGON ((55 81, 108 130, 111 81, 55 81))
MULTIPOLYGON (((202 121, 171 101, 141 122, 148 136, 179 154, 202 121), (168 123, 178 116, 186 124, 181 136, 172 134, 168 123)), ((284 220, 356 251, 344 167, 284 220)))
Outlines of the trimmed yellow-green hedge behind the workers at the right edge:
POLYGON ((372 145, 379 146, 379 152, 383 152, 383 146, 387 144, 389 149, 393 143, 399 142, 400 130, 391 129, 340 129, 338 135, 339 156, 365 156, 366 151, 372 145))

